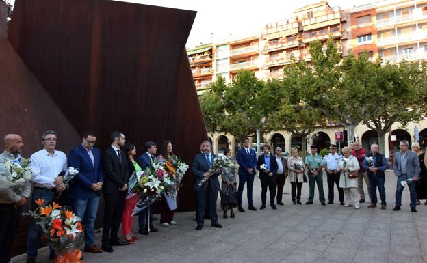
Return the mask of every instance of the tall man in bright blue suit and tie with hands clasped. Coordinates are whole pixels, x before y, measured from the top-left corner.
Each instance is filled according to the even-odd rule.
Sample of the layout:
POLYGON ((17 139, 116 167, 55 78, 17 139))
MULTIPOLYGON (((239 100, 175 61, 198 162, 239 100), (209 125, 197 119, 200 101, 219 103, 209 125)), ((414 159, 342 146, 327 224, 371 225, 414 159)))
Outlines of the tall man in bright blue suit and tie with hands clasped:
POLYGON ((250 149, 249 138, 246 137, 243 139, 242 149, 237 152, 237 163, 239 163, 239 189, 237 193, 239 195, 239 212, 244 212, 242 208, 242 196, 245 182, 248 183, 247 193, 248 193, 248 204, 249 210, 256 211, 257 208, 253 206, 252 202, 252 186, 255 176, 255 167, 257 166, 257 154, 255 150, 250 149))

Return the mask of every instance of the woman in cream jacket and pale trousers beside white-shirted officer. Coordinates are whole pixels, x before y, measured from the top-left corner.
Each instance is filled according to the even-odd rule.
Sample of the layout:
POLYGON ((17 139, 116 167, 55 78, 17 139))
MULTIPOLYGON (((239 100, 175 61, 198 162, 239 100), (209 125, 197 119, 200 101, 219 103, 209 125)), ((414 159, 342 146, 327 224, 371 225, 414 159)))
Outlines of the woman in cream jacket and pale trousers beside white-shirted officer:
POLYGON ((359 171, 359 161, 357 158, 352 156, 351 148, 342 148, 343 158, 339 161, 338 171, 341 173, 339 178, 339 187, 344 190, 344 206, 352 206, 354 204, 355 209, 360 208, 359 204, 359 191, 357 190, 357 178, 359 171))

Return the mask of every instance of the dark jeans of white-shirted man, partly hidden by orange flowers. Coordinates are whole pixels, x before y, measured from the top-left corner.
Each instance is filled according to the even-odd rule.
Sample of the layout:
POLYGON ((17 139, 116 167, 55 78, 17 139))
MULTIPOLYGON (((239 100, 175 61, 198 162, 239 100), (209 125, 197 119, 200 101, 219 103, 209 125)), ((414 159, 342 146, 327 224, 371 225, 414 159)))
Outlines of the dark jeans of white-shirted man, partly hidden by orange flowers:
MULTIPOLYGON (((44 189, 34 188, 33 197, 31 198, 31 208, 36 210, 38 205, 36 204, 37 199, 44 199, 44 203, 42 207, 52 204, 53 197, 55 193, 53 191, 47 191, 44 189)), ((36 225, 36 221, 31 220, 29 224, 28 230, 28 241, 27 241, 27 257, 28 258, 36 258, 37 257, 37 249, 40 243, 40 234, 42 233, 42 228, 39 225, 36 225)), ((49 245, 49 249, 51 251, 51 255, 55 252, 53 251, 53 247, 49 245)))

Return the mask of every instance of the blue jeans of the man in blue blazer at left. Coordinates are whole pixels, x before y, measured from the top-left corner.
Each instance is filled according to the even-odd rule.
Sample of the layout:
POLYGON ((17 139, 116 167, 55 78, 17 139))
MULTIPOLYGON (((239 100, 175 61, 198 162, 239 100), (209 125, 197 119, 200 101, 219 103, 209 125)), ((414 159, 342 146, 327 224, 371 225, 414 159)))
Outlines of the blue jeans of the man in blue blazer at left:
POLYGON ((99 196, 94 195, 89 199, 73 199, 73 212, 81 218, 85 230, 85 245, 94 243, 94 223, 98 211, 99 196))

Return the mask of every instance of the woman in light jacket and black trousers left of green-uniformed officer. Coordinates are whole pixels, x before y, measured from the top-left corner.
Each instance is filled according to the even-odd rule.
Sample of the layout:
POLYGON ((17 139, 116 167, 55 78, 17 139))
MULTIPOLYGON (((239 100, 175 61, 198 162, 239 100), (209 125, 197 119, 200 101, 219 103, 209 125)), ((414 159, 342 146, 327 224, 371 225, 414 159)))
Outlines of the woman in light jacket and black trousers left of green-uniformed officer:
POLYGON ((289 169, 289 182, 291 182, 292 204, 302 204, 302 182, 307 182, 307 177, 305 177, 304 174, 304 162, 302 161, 302 158, 298 156, 298 148, 296 147, 291 149, 291 156, 287 159, 287 168, 289 169))

